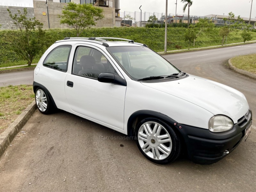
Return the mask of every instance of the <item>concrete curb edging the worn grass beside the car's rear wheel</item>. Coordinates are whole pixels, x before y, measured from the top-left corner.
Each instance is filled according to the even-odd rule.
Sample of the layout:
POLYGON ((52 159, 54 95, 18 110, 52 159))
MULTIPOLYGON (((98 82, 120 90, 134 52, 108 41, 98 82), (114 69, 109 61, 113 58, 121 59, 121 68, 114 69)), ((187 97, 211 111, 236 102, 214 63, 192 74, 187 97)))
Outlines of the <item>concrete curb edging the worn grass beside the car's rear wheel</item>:
POLYGON ((36 102, 33 101, 18 118, 15 119, 9 127, 0 134, 0 157, 4 154, 5 149, 10 145, 13 138, 21 128, 27 123, 28 119, 36 110, 36 102))

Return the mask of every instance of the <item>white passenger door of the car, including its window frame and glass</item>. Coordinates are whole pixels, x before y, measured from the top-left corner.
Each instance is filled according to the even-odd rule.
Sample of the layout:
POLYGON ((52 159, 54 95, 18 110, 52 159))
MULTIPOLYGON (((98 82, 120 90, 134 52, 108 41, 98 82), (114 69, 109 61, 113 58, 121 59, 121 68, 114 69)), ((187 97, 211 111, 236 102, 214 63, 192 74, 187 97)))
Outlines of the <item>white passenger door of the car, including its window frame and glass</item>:
POLYGON ((77 46, 74 55, 72 72, 65 81, 71 110, 76 115, 123 132, 126 86, 102 83, 97 79, 105 72, 118 75, 112 61, 99 48, 89 45, 77 46))

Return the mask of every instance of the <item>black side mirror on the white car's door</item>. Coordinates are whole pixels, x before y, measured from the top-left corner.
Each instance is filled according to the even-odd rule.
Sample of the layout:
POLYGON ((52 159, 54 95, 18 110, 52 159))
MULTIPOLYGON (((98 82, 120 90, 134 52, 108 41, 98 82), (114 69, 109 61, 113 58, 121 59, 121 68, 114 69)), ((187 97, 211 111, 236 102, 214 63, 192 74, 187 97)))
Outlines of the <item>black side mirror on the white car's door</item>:
POLYGON ((111 83, 123 86, 127 85, 126 81, 123 78, 114 73, 101 73, 98 76, 98 81, 102 83, 111 83))

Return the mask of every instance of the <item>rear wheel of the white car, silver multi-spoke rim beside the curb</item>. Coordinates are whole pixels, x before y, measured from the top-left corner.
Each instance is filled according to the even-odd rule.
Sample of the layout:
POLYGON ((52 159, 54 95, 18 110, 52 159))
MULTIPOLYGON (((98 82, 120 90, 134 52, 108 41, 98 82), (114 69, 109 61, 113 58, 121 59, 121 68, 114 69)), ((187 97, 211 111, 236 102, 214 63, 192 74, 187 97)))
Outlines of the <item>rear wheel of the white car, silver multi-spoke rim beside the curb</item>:
POLYGON ((52 110, 53 110, 52 101, 49 98, 48 93, 43 88, 38 87, 36 89, 35 100, 36 100, 36 106, 41 113, 43 114, 52 113, 52 110))

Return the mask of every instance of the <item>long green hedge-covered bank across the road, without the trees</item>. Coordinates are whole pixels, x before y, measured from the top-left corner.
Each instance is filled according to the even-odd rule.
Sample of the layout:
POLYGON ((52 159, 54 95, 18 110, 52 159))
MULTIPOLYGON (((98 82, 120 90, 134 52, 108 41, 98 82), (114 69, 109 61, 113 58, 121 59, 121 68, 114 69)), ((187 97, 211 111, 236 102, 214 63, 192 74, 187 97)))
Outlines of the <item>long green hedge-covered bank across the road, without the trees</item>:
MULTIPOLYGON (((178 24, 178 23, 177 23, 178 24)), ((221 45, 221 36, 219 35, 220 28, 213 28, 211 31, 206 31, 202 35, 198 36, 195 42, 196 47, 206 47, 221 45)), ((182 49, 188 48, 188 42, 185 42, 184 34, 186 28, 184 27, 168 27, 167 29, 167 50, 176 50, 179 45, 182 49), (175 47, 176 46, 176 47, 175 47)), ((12 39, 10 34, 17 33, 13 30, 0 30, 0 67, 1 64, 20 61, 20 57, 12 51, 12 39)), ((135 42, 147 44, 149 48, 156 52, 164 51, 164 28, 91 28, 83 31, 81 37, 120 37, 126 39, 132 39, 135 42)), ((52 45, 55 41, 61 40, 64 37, 76 37, 76 31, 74 29, 49 29, 46 30, 45 46, 37 55, 36 59, 40 58, 46 49, 52 45)), ((256 40, 256 33, 252 33, 252 40, 256 40)), ((241 37, 241 31, 233 31, 229 33, 227 43, 243 42, 241 37)), ((194 48, 194 47, 190 47, 194 48)))

